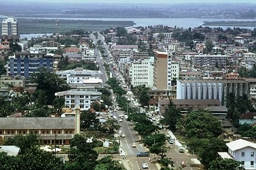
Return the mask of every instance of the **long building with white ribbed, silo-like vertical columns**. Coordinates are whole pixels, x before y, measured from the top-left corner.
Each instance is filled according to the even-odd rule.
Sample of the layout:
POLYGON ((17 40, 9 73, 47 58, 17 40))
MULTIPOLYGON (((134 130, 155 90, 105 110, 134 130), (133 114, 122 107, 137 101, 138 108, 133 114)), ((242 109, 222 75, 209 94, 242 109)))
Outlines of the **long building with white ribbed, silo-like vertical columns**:
POLYGON ((219 99, 224 105, 229 93, 249 96, 249 82, 236 79, 177 80, 177 99, 219 99))

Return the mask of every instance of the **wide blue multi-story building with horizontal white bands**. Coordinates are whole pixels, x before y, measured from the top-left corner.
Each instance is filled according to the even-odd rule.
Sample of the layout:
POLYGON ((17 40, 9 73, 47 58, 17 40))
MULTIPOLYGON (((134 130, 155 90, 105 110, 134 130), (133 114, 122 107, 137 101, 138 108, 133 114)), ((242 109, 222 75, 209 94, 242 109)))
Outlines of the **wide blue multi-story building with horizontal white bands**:
POLYGON ((53 56, 47 53, 17 52, 9 57, 8 74, 11 76, 28 77, 38 72, 39 68, 53 70, 53 56))

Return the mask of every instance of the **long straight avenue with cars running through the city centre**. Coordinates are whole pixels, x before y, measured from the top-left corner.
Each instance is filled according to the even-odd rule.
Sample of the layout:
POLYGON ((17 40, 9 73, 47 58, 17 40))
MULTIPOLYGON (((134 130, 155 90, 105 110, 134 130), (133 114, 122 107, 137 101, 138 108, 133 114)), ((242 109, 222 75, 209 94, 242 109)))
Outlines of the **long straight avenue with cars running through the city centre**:
MULTIPOLYGON (((101 34, 98 34, 98 39, 96 39, 94 37, 95 43, 99 39, 102 42, 104 42, 104 36, 102 36, 101 34)), ((99 70, 103 73, 102 80, 103 80, 103 84, 104 84, 105 82, 107 82, 107 75, 105 73, 103 62, 105 61, 106 63, 108 63, 108 61, 110 61, 110 58, 112 56, 110 56, 110 54, 109 54, 107 45, 105 43, 103 43, 102 46, 103 46, 103 48, 105 48, 105 53, 107 53, 107 58, 102 58, 102 60, 100 60, 98 62, 99 62, 99 70)), ((97 56, 101 57, 98 51, 96 53, 97 53, 97 56)), ((110 72, 112 72, 113 77, 119 79, 119 77, 117 76, 118 74, 120 74, 118 69, 113 69, 113 67, 109 67, 109 68, 110 68, 110 72)), ((124 85, 124 82, 120 81, 120 86, 123 87, 123 85, 124 85)), ((115 106, 117 105, 117 103, 114 102, 113 105, 114 105, 114 109, 115 109, 115 106)), ((134 106, 133 102, 130 102, 129 107, 136 108, 136 106, 134 106)), ((114 112, 114 114, 119 119, 118 116, 120 116, 121 114, 125 114, 125 112, 117 111, 117 112, 114 112)), ((159 117, 156 117, 156 119, 158 120, 159 117)), ((134 129, 133 129, 134 124, 132 122, 128 122, 126 119, 123 119, 123 122, 119 122, 119 124, 121 126, 120 130, 122 131, 122 133, 125 134, 125 137, 120 137, 120 134, 117 134, 118 138, 120 137, 120 155, 119 156, 115 155, 114 159, 115 160, 119 160, 119 159, 123 160, 123 157, 126 157, 126 160, 123 160, 123 162, 125 164, 125 168, 127 168, 127 169, 134 169, 134 170, 143 169, 142 168, 143 163, 148 163, 148 169, 152 169, 152 170, 160 169, 161 168, 160 165, 155 164, 152 161, 154 154, 150 154, 150 157, 137 157, 136 156, 136 154, 138 152, 147 152, 147 150, 142 145, 141 137, 137 134, 136 131, 134 131, 134 129), (136 147, 132 147, 132 143, 135 143, 136 147), (149 158, 151 158, 151 161, 149 161, 149 158)), ((166 135, 168 134, 166 129, 161 129, 160 133, 163 133, 166 135)), ((170 149, 170 151, 168 151, 166 153, 166 156, 168 158, 172 159, 176 169, 181 167, 181 163, 183 161, 186 163, 186 167, 181 167, 182 169, 185 169, 185 170, 197 169, 197 168, 190 167, 191 158, 196 158, 196 156, 191 156, 186 153, 180 153, 179 148, 177 146, 175 146, 175 144, 167 143, 167 145, 170 146, 171 149, 170 149)))

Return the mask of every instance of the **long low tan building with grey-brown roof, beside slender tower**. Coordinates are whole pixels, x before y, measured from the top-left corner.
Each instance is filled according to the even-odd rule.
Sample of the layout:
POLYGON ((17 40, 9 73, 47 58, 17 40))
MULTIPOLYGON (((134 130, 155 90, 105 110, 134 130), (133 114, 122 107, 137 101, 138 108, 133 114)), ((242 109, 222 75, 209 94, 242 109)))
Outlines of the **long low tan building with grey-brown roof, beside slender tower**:
POLYGON ((39 134, 43 144, 70 144, 70 139, 76 134, 75 118, 3 117, 0 119, 0 136, 4 139, 29 133, 39 134))

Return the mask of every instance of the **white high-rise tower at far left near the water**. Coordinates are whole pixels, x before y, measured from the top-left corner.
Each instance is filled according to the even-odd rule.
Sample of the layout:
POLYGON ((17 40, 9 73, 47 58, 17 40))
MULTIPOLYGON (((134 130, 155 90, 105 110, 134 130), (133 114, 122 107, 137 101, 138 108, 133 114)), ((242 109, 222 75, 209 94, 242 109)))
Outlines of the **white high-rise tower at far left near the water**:
POLYGON ((20 36, 18 35, 18 22, 13 16, 9 16, 2 21, 2 40, 8 41, 19 41, 20 36))

